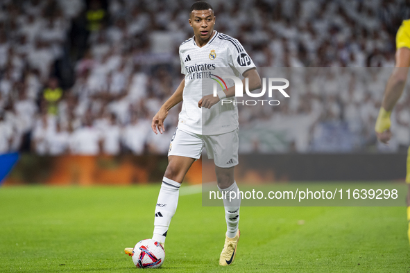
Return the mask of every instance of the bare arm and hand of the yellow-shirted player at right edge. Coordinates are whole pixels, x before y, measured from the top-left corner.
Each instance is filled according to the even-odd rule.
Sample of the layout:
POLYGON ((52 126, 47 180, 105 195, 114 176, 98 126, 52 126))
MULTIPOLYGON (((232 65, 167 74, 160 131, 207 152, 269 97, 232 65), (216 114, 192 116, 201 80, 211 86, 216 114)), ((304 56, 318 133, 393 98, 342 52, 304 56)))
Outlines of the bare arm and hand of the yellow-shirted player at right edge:
POLYGON ((393 107, 398 102, 400 96, 402 96, 404 85, 406 85, 407 73, 410 67, 410 49, 407 47, 398 49, 395 59, 395 69, 388 79, 382 107, 380 108, 375 125, 377 139, 382 141, 382 143, 388 143, 391 139, 390 115, 393 107))

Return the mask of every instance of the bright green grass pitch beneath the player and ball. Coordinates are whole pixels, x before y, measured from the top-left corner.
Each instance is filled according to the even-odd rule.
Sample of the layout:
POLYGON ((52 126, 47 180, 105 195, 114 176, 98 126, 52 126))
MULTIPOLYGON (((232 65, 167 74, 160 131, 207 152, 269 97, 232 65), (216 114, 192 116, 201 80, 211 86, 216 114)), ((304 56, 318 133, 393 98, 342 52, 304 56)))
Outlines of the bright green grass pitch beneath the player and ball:
MULTIPOLYGON (((0 272, 140 272, 123 248, 151 238, 158 191, 0 188, 0 272)), ((223 208, 181 195, 157 272, 410 271, 404 206, 243 207, 239 227, 237 258, 220 267, 223 208)))

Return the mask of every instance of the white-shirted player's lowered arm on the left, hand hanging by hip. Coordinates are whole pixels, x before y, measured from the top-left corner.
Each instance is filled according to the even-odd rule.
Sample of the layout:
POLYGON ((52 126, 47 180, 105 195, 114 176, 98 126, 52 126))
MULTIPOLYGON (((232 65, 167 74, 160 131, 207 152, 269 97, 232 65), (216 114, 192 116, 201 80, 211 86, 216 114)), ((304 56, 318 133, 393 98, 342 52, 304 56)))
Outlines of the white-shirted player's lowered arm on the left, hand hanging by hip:
POLYGON ((158 111, 157 114, 155 114, 155 116, 153 117, 151 128, 153 129, 153 132, 155 132, 155 134, 158 134, 157 129, 161 134, 165 132, 164 120, 166 116, 168 116, 169 109, 182 101, 182 93, 184 91, 184 87, 185 78, 181 81, 180 85, 172 94, 172 96, 161 106, 160 111, 158 111))

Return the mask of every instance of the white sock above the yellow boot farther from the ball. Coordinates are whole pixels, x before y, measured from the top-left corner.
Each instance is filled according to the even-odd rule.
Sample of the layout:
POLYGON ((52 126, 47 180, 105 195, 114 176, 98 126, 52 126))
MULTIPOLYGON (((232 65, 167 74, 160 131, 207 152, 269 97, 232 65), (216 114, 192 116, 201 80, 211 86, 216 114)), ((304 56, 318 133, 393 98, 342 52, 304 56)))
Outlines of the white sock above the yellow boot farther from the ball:
MULTIPOLYGON (((218 187, 219 188, 219 187, 218 187)), ((219 188, 219 191, 221 193, 225 191, 233 191, 234 193, 238 193, 239 188, 237 186, 237 183, 234 182, 231 186, 228 188, 219 188)), ((238 231, 238 226, 239 226, 239 209, 241 207, 241 195, 236 196, 235 199, 232 199, 230 201, 229 199, 229 193, 226 194, 226 199, 223 199, 223 206, 225 206, 225 220, 226 220, 226 236, 229 238, 234 238, 234 236, 237 235, 238 231)))

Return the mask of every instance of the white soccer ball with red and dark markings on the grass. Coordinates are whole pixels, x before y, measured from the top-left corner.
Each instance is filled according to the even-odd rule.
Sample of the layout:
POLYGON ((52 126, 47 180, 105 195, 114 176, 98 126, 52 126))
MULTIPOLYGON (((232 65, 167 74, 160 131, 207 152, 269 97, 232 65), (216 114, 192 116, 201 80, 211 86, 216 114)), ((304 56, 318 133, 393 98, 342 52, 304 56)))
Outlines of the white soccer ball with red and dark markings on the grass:
POLYGON ((141 240, 133 249, 133 262, 139 268, 158 268, 164 259, 164 247, 153 239, 141 240))

